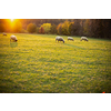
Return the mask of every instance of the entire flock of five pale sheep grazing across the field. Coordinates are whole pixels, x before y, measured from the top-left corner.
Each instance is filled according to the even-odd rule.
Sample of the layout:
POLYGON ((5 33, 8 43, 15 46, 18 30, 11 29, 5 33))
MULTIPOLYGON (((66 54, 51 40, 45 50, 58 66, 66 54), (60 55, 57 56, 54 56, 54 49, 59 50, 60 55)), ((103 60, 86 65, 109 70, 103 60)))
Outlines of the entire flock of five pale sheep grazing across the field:
MULTIPOLYGON (((7 36, 7 33, 3 32, 3 36, 7 36)), ((11 41, 11 40, 13 40, 13 41, 16 41, 16 42, 18 41, 18 39, 17 39, 16 36, 10 36, 10 41, 11 41)), ((69 40, 74 41, 72 37, 68 37, 68 41, 69 41, 69 40)), ((81 40, 80 40, 80 41, 82 41, 82 40, 88 41, 88 38, 87 38, 87 37, 81 37, 81 40)), ((59 42, 59 41, 63 41, 63 43, 64 43, 64 39, 63 39, 62 37, 56 37, 56 42, 57 42, 57 41, 58 41, 58 42, 59 42)))

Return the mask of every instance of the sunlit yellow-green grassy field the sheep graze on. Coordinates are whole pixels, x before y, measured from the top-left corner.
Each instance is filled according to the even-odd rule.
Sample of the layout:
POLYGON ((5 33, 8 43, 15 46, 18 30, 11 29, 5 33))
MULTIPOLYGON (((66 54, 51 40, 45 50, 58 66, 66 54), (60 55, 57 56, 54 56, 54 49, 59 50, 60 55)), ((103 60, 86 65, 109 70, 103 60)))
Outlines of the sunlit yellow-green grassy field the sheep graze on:
POLYGON ((11 34, 0 34, 0 93, 111 93, 111 40, 11 34))

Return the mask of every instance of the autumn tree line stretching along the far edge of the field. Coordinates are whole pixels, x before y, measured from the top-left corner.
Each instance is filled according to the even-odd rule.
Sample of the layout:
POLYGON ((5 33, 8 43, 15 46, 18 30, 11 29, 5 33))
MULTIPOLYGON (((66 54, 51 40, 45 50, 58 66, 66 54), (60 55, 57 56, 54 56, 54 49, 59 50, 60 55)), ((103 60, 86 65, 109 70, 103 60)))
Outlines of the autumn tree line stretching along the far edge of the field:
POLYGON ((87 36, 108 38, 110 19, 0 19, 0 32, 30 32, 61 36, 87 36))

